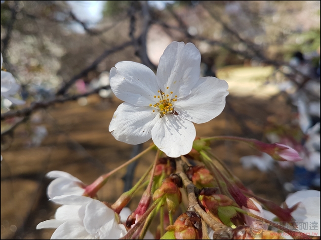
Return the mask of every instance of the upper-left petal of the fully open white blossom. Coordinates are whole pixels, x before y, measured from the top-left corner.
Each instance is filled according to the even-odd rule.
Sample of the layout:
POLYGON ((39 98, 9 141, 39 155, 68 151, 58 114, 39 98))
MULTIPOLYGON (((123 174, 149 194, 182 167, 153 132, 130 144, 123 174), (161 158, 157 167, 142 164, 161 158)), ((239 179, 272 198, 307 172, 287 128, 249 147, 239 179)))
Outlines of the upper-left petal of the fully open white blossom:
POLYGON ((160 90, 151 69, 130 61, 119 62, 110 70, 110 86, 117 98, 136 106, 154 103, 160 90))

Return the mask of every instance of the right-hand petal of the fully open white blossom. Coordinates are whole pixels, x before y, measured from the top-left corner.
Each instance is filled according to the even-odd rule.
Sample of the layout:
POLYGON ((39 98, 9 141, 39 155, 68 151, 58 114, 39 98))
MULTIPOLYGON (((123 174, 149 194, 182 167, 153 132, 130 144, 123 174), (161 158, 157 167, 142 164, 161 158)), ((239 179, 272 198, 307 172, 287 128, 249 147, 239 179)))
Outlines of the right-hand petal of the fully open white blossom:
POLYGON ((194 123, 208 122, 223 111, 228 87, 225 80, 201 77, 189 96, 177 100, 175 111, 194 123))

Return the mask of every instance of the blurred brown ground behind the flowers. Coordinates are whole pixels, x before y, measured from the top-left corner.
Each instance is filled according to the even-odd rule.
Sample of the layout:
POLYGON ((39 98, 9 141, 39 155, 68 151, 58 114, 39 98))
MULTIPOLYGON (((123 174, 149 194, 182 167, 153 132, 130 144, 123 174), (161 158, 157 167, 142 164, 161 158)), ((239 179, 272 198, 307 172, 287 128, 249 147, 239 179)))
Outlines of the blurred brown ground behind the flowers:
MULTIPOLYGON (((120 103, 116 98, 109 103, 102 102, 98 96, 91 96, 86 106, 72 102, 38 112, 36 116, 42 118, 38 124, 44 124, 48 130, 48 136, 39 147, 26 146, 30 141, 26 130, 37 124, 21 125, 15 130, 11 146, 1 152, 4 159, 1 162, 1 239, 50 238, 54 230, 35 229, 39 222, 52 218, 57 207, 49 203, 45 195, 50 182, 44 178, 46 172, 67 171, 88 184, 129 159, 132 146, 117 141, 108 131, 111 117, 120 103)), ((195 125, 197 135, 261 139, 267 116, 275 113, 276 109, 289 113, 282 97, 268 102, 230 95, 220 116, 209 123, 195 125)), ((144 143, 144 148, 150 143, 144 143)), ((284 201, 279 178, 282 176, 281 182, 284 181, 290 177, 290 172, 284 176, 278 172, 244 170, 239 158, 256 153, 244 144, 217 141, 212 143, 212 147, 254 193, 277 204, 284 201)), ((141 158, 135 181, 152 163, 154 154, 150 152, 141 158)), ((99 192, 101 201, 113 203, 120 196, 124 173, 125 169, 122 169, 108 181, 99 192)), ((137 201, 139 197, 129 207, 134 209, 137 201)))

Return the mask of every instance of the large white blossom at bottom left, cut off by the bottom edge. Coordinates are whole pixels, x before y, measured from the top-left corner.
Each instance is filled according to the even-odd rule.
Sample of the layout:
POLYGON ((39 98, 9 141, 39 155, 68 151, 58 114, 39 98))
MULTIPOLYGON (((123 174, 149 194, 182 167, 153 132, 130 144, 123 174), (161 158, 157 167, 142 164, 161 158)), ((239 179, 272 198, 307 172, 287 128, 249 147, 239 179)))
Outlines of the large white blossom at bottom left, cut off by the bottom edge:
POLYGON ((102 202, 79 195, 62 195, 50 199, 63 204, 55 219, 40 222, 37 229, 57 228, 51 239, 119 239, 126 234, 115 212, 102 202))

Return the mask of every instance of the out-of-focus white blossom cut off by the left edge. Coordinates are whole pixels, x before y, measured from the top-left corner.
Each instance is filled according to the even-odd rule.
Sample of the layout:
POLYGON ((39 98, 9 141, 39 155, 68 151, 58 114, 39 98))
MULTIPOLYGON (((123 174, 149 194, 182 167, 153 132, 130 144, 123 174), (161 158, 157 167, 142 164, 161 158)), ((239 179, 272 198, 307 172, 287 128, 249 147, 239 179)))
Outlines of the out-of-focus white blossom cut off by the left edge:
MULTIPOLYGON (((2 69, 2 53, 1 53, 1 69, 2 69)), ((11 103, 21 105, 26 103, 23 100, 16 99, 14 96, 20 88, 20 85, 16 83, 16 79, 14 79, 13 75, 10 72, 1 70, 1 96, 9 100, 11 103)))

